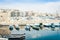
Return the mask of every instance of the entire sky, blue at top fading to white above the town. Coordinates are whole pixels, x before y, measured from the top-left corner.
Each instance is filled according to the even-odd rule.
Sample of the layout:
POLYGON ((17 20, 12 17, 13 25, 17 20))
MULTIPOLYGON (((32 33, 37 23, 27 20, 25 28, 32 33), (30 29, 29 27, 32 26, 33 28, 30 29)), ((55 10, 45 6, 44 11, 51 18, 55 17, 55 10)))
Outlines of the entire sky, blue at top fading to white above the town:
POLYGON ((60 0, 0 0, 0 8, 60 13, 60 0))

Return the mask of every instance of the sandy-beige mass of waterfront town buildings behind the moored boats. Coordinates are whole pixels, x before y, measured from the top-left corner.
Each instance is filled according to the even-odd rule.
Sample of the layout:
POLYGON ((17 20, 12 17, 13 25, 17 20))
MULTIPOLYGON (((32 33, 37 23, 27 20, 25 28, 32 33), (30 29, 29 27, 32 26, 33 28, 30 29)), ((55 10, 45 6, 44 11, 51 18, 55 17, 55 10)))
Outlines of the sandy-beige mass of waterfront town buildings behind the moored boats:
POLYGON ((21 11, 16 9, 1 9, 0 24, 29 24, 29 23, 46 23, 60 22, 56 14, 47 14, 34 11, 21 11))

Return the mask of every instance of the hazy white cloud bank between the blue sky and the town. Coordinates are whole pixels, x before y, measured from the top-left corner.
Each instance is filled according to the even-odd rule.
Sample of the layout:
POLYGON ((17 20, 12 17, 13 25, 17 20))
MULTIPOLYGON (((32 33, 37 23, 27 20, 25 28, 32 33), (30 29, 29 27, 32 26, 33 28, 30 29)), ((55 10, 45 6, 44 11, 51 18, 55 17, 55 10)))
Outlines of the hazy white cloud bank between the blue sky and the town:
POLYGON ((11 9, 20 9, 20 10, 34 10, 40 12, 55 13, 58 11, 60 13, 60 2, 48 2, 45 4, 32 4, 32 3, 13 3, 13 4, 4 4, 0 5, 0 8, 11 8, 11 9))

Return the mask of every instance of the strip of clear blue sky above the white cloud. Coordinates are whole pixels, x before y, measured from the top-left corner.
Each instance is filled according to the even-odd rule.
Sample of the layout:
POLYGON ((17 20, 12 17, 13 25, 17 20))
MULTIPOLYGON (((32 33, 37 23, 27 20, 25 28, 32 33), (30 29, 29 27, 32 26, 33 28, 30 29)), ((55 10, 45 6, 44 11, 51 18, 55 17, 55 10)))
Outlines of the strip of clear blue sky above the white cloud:
POLYGON ((7 2, 21 2, 21 3, 47 3, 47 2, 58 2, 60 0, 3 0, 7 2))

